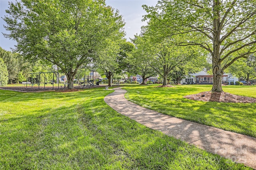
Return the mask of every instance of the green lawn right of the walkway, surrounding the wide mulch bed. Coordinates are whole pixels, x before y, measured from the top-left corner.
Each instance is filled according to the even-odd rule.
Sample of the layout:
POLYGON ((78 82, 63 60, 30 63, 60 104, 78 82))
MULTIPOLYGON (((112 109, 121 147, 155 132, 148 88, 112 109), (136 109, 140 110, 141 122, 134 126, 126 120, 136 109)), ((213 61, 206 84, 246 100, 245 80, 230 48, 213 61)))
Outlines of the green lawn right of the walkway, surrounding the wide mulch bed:
MULTIPOLYGON (((126 87, 126 98, 166 115, 256 137, 256 103, 201 102, 184 98, 210 91, 211 85, 126 87)), ((256 86, 223 86, 224 92, 256 98, 256 86)))

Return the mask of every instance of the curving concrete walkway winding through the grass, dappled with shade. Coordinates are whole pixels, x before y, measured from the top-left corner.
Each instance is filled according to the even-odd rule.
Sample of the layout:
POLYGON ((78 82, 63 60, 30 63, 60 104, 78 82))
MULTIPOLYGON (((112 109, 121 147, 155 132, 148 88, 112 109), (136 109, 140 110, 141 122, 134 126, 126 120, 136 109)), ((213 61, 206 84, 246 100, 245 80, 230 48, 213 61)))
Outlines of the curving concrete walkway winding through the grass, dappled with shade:
POLYGON ((256 138, 146 109, 126 100, 126 90, 114 90, 104 101, 119 113, 168 136, 256 169, 256 138))

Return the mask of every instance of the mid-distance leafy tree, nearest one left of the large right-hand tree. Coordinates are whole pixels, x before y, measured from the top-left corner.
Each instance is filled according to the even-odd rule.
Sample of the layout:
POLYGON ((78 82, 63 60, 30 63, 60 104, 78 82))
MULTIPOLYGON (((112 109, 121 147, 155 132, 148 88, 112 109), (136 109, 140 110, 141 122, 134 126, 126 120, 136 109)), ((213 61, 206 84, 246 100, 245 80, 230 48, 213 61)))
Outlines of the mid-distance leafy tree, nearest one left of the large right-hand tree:
MULTIPOLYGON (((163 85, 167 85, 168 74, 178 65, 183 65, 191 60, 200 58, 201 51, 197 47, 180 47, 173 43, 172 37, 160 38, 163 33, 157 32, 157 28, 150 21, 148 27, 143 30, 141 41, 137 41, 143 47, 145 61, 163 78, 163 85)), ((177 37, 176 37, 177 38, 177 37)), ((182 37, 179 37, 182 38, 182 37)), ((140 47, 141 48, 141 47, 140 47)))

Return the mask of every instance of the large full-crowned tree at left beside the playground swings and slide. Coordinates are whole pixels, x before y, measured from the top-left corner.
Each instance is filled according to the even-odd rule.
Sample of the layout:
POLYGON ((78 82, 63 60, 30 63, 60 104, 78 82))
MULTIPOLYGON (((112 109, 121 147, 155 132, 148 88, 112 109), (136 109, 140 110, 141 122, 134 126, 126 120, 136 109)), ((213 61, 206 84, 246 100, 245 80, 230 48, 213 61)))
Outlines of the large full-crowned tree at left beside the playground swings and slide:
POLYGON ((6 10, 6 37, 30 60, 47 60, 67 76, 95 60, 112 39, 123 36, 124 22, 104 0, 21 0, 6 10))

